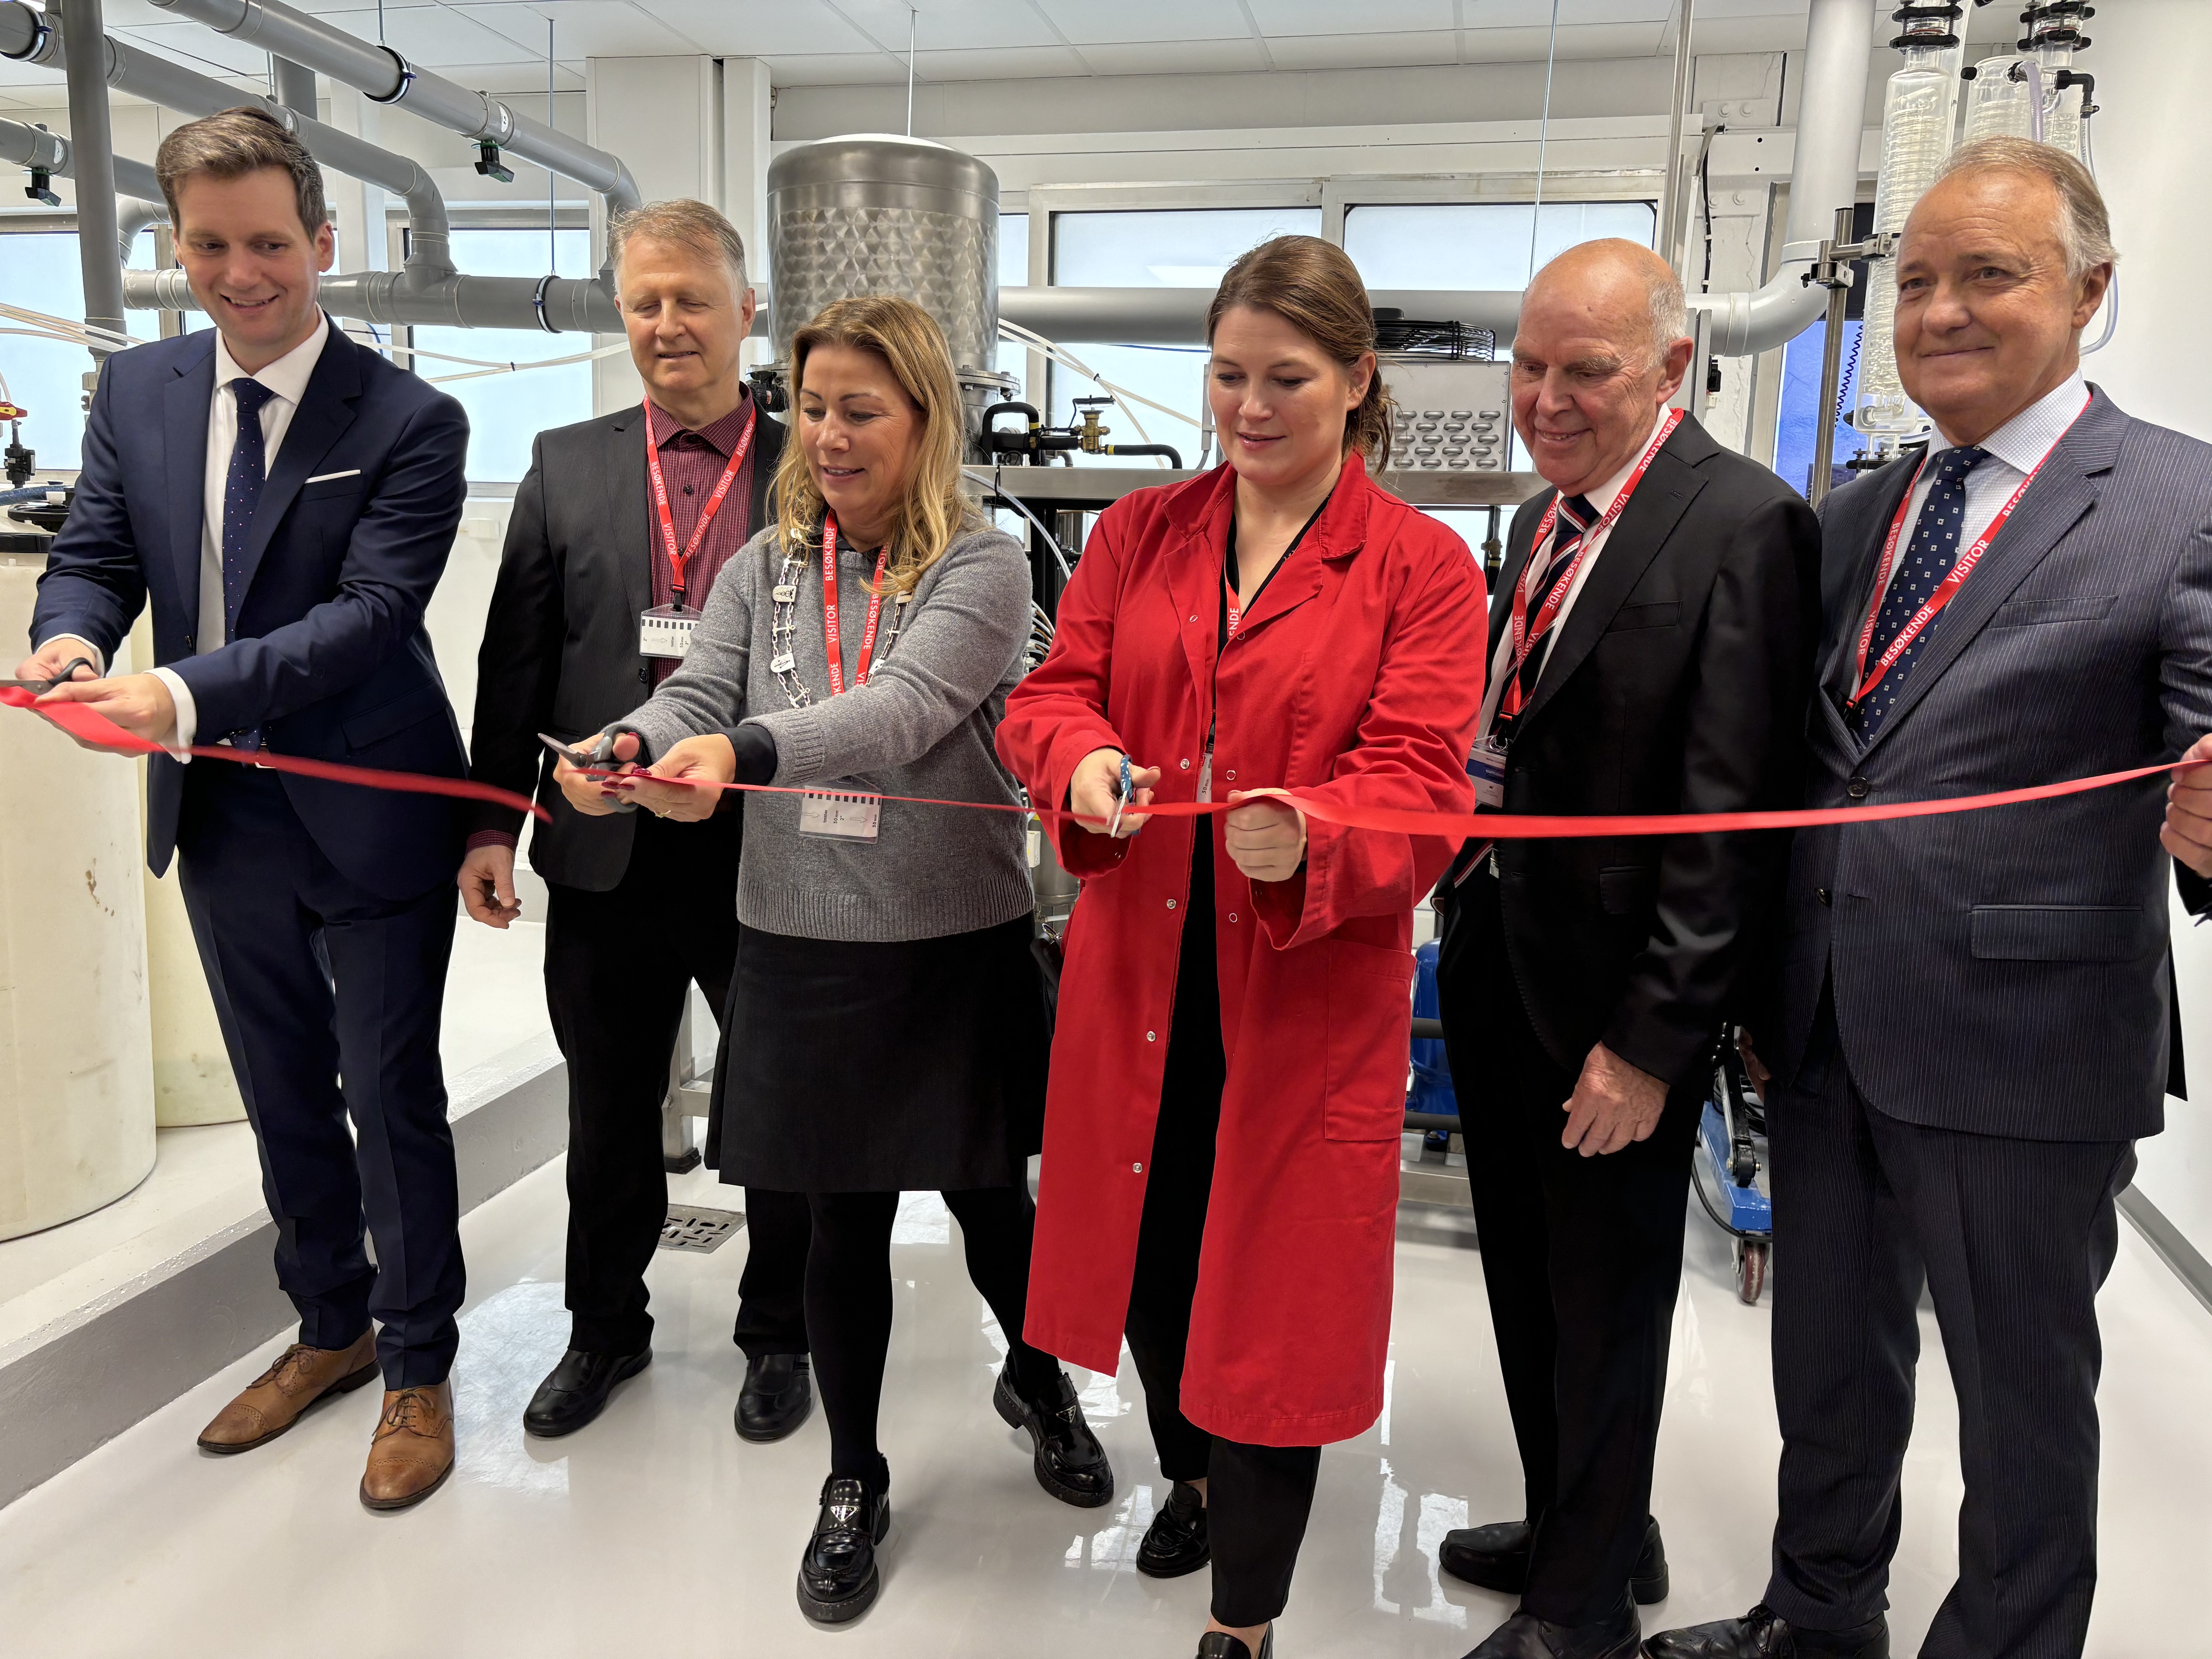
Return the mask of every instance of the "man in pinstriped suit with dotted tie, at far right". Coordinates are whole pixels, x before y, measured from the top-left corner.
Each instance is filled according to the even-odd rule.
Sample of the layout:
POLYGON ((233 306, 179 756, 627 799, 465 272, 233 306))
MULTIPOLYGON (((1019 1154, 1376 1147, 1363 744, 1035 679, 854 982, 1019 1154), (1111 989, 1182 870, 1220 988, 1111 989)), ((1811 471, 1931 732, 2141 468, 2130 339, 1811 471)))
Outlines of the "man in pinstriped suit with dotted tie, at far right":
MULTIPOLYGON (((2088 170, 2026 139, 1960 148, 1905 223, 1898 369, 1936 436, 1825 504, 1812 805, 2117 772, 2212 728, 2212 449, 2081 380, 2110 276, 2088 170)), ((1750 1615, 1648 1652, 1887 1659, 1922 1281, 1966 1495, 1920 1652, 2081 1652, 2097 1287, 2177 1057, 2163 794, 1798 834, 1765 1044, 1774 1568, 1750 1615)))

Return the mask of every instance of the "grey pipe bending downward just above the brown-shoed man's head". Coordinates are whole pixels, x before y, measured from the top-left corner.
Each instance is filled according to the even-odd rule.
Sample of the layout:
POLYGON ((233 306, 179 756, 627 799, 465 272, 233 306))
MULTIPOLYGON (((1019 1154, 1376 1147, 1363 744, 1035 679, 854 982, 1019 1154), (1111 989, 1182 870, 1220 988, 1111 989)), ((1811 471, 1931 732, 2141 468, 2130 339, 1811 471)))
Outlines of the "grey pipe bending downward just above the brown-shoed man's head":
MULTIPOLYGON (((394 272, 414 281, 431 281, 453 272, 451 237, 445 221, 445 197, 429 175, 405 155, 392 155, 367 139, 323 126, 268 97, 241 93, 237 86, 133 51, 113 38, 104 38, 106 82, 117 91, 133 93, 181 111, 184 115, 215 115, 215 111, 254 104, 281 119, 301 144, 323 164, 356 179, 367 179, 407 201, 409 250, 407 270, 394 272)), ((51 13, 31 11, 22 0, 0 0, 0 58, 42 64, 46 69, 69 66, 69 42, 62 24, 51 13)))

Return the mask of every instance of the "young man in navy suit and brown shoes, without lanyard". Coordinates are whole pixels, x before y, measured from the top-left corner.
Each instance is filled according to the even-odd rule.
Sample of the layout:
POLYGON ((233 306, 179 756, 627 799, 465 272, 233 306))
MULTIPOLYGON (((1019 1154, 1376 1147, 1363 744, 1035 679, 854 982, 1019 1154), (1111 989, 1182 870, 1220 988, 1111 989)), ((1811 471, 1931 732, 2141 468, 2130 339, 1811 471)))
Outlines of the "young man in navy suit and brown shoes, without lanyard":
POLYGON ((51 697, 177 757, 150 761, 146 858, 161 874, 179 854, 301 1316, 199 1444, 259 1447, 380 1365, 361 1502, 403 1509, 453 1467, 462 1263, 438 1013, 460 818, 438 796, 184 750, 467 772, 422 611, 460 522, 469 422, 316 305, 323 177, 283 126, 254 108, 190 122, 155 170, 215 330, 108 358, 18 677, 104 668, 153 606, 153 672, 80 668, 51 697))

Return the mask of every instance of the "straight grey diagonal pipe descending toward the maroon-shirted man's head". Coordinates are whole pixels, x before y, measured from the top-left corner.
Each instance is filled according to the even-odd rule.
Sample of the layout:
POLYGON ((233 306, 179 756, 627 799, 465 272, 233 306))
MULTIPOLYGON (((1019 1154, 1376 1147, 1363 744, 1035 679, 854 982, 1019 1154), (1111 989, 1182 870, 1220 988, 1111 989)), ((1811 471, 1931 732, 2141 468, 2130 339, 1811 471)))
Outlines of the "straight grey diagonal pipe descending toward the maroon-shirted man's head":
MULTIPOLYGON (((250 40, 263 51, 319 69, 336 82, 358 86, 378 104, 398 104, 431 126, 460 133, 478 144, 498 144, 509 155, 535 161, 586 184, 606 197, 606 210, 641 206, 637 181, 622 157, 557 133, 529 115, 515 115, 489 93, 471 93, 445 75, 416 69, 389 46, 372 46, 358 35, 332 29, 283 0, 153 0, 177 18, 190 18, 219 35, 250 40)), ((551 113, 551 111, 549 111, 551 113)))

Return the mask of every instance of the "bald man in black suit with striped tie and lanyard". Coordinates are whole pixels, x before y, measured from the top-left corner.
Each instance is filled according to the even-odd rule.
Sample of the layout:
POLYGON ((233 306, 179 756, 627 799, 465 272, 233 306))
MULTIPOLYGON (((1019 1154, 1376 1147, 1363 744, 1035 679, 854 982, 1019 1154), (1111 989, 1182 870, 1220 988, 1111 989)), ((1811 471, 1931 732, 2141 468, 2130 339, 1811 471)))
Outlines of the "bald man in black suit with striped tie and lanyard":
MULTIPOLYGON (((1553 491, 1491 597, 1478 807, 1792 805, 1818 529, 1765 467, 1668 409, 1692 343, 1648 248, 1573 248, 1528 285, 1513 422, 1553 491)), ((1787 843, 1471 841, 1438 885, 1444 1042, 1522 1520, 1444 1571, 1522 1604, 1471 1659, 1626 1659, 1666 1595, 1650 1517, 1690 1144, 1787 843)))

